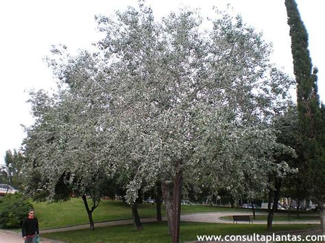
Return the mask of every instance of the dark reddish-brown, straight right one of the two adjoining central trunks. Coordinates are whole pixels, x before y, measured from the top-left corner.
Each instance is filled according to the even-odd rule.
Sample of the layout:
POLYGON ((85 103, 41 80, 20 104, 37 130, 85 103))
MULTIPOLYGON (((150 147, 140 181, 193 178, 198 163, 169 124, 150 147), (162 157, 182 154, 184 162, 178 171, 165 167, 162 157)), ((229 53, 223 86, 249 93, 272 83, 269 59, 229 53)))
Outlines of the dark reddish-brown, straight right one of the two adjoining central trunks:
POLYGON ((176 172, 173 183, 173 243, 180 241, 180 201, 182 199, 182 170, 176 172))

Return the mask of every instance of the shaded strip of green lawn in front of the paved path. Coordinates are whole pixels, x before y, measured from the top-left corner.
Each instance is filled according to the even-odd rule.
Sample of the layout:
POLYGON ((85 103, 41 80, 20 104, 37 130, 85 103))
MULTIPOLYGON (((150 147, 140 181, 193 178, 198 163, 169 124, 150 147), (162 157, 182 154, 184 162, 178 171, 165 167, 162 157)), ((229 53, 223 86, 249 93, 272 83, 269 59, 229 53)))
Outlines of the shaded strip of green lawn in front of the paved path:
MULTIPOLYGON (((290 231, 317 228, 317 225, 274 225, 274 231, 290 231)), ((196 235, 246 235, 266 233, 266 225, 213 224, 181 222, 180 241, 197 240, 196 235)), ((99 227, 95 231, 77 230, 60 233, 45 233, 45 238, 66 242, 171 242, 167 222, 145 223, 143 231, 133 225, 99 227)))

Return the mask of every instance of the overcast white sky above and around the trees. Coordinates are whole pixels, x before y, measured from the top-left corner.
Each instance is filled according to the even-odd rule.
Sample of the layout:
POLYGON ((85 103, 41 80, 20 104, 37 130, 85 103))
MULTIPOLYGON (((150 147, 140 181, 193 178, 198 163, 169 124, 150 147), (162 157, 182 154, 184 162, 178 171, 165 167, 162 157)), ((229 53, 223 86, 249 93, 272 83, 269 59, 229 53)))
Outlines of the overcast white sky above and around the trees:
MULTIPOLYGON (((272 42, 272 62, 293 76, 285 0, 147 0, 158 17, 181 5, 201 8, 211 16, 212 6, 225 9, 230 3, 243 20, 263 31, 272 42)), ((324 0, 296 0, 309 32, 309 50, 319 68, 319 90, 325 102, 324 0)), ((31 125, 27 92, 54 86, 51 70, 43 62, 51 44, 84 49, 98 38, 95 14, 110 14, 136 5, 137 0, 10 0, 0 2, 0 164, 5 151, 19 149, 25 134, 21 124, 31 125)))

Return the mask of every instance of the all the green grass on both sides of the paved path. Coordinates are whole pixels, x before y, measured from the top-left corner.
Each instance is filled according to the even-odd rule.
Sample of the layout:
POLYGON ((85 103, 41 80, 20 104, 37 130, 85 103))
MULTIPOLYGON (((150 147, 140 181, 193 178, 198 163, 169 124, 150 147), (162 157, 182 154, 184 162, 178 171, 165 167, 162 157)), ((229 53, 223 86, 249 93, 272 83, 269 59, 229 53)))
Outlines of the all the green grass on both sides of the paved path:
MULTIPOLYGON (((88 223, 88 218, 81 199, 71 199, 64 203, 33 203, 40 229, 64 227, 88 223)), ((251 209, 236 209, 236 211, 251 212, 251 209)), ((165 214, 164 210, 162 210, 165 214)), ((231 208, 219 208, 199 205, 183 205, 182 214, 198 212, 234 212, 231 208)), ((139 205, 141 217, 155 217, 156 206, 144 203, 139 205)), ((95 209, 94 220, 116 220, 131 218, 130 207, 121 201, 102 201, 95 209)), ((167 233, 167 223, 146 223, 143 231, 135 231, 133 225, 96 228, 95 231, 65 231, 61 233, 43 234, 45 238, 53 238, 69 242, 170 242, 167 233), (159 239, 159 240, 157 240, 159 239)), ((294 229, 309 229, 317 225, 274 225, 275 231, 294 229)), ((182 241, 196 240, 196 235, 232 235, 265 233, 265 225, 212 224, 197 222, 182 222, 180 238, 182 241)))

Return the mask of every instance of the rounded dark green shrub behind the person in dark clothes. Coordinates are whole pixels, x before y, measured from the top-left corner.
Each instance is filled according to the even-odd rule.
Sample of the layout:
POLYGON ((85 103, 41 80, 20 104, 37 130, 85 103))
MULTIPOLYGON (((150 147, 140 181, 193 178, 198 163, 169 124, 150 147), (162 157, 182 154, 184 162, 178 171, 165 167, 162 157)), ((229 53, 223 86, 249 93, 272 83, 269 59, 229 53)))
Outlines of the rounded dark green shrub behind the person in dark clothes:
POLYGON ((0 198, 0 229, 19 228, 21 220, 27 217, 32 203, 21 193, 6 194, 0 198))

